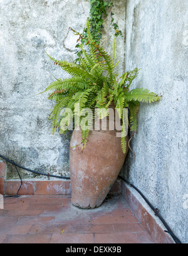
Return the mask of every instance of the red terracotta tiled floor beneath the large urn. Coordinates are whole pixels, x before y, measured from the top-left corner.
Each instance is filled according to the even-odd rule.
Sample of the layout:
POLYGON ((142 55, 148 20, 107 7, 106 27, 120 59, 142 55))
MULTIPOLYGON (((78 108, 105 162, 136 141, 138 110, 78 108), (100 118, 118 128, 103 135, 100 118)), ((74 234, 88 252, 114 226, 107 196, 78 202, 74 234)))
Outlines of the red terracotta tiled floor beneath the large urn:
POLYGON ((154 243, 122 196, 80 209, 71 196, 4 198, 0 243, 154 243))

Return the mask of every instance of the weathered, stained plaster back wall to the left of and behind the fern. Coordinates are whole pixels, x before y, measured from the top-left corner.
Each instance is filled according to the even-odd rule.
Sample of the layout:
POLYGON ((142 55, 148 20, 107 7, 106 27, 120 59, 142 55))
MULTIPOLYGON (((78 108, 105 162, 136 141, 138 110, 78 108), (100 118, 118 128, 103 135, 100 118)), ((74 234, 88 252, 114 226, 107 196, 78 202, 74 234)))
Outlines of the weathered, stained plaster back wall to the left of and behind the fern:
MULTIPOLYGON (((53 75, 67 77, 46 52, 57 59, 75 60, 78 37, 68 28, 83 31, 90 0, 0 0, 0 11, 0 154, 29 169, 70 177, 70 137, 51 135, 48 115, 54 102, 48 101, 48 94, 36 94, 55 81, 53 75)), ((124 31, 124 1, 115 3, 113 12, 124 31)), ((113 33, 108 17, 103 31, 107 50, 112 49, 113 33)), ((124 38, 117 38, 117 43, 122 57, 124 38)), ((19 172, 22 178, 39 177, 19 172)), ((11 164, 6 174, 7 179, 19 179, 11 164)))

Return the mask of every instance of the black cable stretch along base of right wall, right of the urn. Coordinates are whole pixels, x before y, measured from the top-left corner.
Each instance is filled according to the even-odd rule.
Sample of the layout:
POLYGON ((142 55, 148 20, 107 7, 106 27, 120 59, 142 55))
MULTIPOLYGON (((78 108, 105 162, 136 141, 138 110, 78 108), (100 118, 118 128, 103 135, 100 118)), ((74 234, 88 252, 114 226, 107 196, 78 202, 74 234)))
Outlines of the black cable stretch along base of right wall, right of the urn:
POLYGON ((125 181, 127 184, 129 184, 131 187, 133 187, 141 196, 142 198, 144 198, 144 200, 146 201, 147 204, 149 204, 150 208, 154 211, 155 215, 157 215, 159 217, 159 219, 162 221, 162 223, 164 224, 165 228, 167 228, 167 230, 164 230, 166 233, 169 233, 172 238, 174 239, 175 243, 182 243, 180 242, 179 238, 177 238, 173 231, 171 230, 171 228, 169 227, 169 225, 166 223, 166 221, 164 220, 164 218, 162 218, 162 216, 159 213, 159 210, 157 208, 155 208, 150 201, 144 196, 144 194, 137 188, 135 187, 132 183, 130 183, 129 181, 127 181, 126 179, 124 179, 123 177, 121 177, 120 175, 118 175, 118 177, 120 177, 123 181, 125 181))

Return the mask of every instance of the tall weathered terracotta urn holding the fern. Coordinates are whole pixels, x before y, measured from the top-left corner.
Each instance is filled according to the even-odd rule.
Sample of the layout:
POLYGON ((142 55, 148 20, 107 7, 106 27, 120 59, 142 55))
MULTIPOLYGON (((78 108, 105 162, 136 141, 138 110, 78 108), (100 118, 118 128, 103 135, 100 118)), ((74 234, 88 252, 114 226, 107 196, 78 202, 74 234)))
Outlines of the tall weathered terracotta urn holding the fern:
MULTIPOLYGON (((128 148, 128 136, 126 139, 128 148)), ((81 130, 74 130, 70 142, 71 203, 96 208, 116 181, 127 152, 122 152, 116 131, 109 130, 90 131, 85 149, 81 146, 81 130)))

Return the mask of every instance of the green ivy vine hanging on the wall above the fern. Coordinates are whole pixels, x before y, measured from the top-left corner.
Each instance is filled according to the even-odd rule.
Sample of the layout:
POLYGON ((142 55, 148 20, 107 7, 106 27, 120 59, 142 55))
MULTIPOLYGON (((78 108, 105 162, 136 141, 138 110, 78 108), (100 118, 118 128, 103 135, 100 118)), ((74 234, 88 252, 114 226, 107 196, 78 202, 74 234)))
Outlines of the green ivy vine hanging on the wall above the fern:
MULTIPOLYGON (((108 16, 108 10, 113 8, 113 1, 112 0, 90 0, 90 24, 91 24, 91 35, 95 40, 96 44, 100 44, 100 40, 102 38, 102 29, 103 29, 103 20, 108 16)), ((119 30, 117 23, 114 23, 113 18, 114 13, 110 11, 110 25, 113 26, 115 30, 115 36, 121 35, 122 31, 119 30)), ((87 37, 87 30, 84 28, 83 30, 83 38, 78 38, 76 48, 80 48, 81 45, 85 44, 85 39, 87 37)), ((81 55, 81 50, 79 49, 76 54, 78 58, 76 58, 75 62, 79 60, 81 55)))

